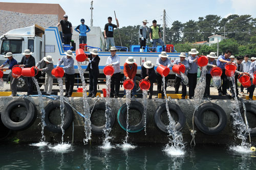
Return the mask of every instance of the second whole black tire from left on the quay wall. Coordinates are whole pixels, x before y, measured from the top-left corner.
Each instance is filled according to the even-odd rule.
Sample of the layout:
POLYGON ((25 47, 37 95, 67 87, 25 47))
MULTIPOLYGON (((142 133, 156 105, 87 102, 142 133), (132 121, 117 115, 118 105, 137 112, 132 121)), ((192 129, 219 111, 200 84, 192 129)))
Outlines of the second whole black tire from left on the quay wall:
MULTIPOLYGON (((54 125, 53 123, 51 123, 51 120, 50 120, 51 111, 55 109, 60 109, 60 101, 52 101, 46 105, 45 123, 46 123, 47 130, 49 130, 50 132, 58 133, 58 132, 61 132, 61 128, 60 128, 61 124, 54 125)), ((63 129, 66 130, 69 128, 69 126, 73 122, 73 110, 69 106, 69 104, 67 104, 66 102, 64 102, 64 114, 65 116, 64 116, 63 129)))

